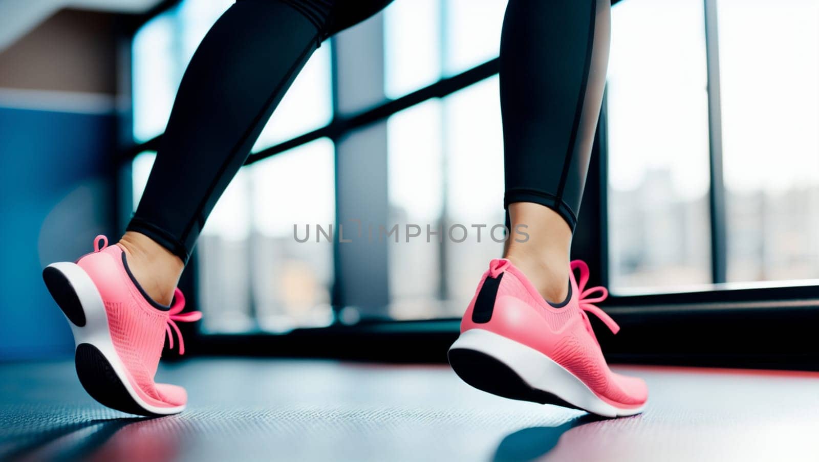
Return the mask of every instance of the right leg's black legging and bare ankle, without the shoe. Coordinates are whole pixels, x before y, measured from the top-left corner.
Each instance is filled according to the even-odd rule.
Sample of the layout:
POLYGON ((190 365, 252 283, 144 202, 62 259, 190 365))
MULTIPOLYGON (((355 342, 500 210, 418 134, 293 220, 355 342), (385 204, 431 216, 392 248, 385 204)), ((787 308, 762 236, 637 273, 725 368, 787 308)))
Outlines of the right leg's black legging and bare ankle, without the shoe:
POLYGON ((609 0, 509 0, 500 40, 505 249, 546 300, 568 295, 577 223, 609 61, 609 0), (527 242, 514 229, 527 226, 527 242))

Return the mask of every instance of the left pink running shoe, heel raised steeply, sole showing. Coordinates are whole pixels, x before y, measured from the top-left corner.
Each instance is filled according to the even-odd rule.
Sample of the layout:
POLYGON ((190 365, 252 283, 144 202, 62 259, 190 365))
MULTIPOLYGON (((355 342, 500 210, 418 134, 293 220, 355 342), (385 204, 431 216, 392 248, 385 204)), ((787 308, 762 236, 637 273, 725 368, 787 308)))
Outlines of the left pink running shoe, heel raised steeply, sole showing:
POLYGON ((179 353, 185 351, 175 321, 196 321, 201 313, 180 314, 185 299, 179 288, 170 307, 152 301, 133 279, 122 249, 107 245, 105 236, 97 236, 93 253, 43 270, 48 292, 74 333, 79 382, 115 410, 149 416, 182 412, 188 401, 185 389, 154 383, 154 374, 165 334, 173 348, 173 329, 179 353))

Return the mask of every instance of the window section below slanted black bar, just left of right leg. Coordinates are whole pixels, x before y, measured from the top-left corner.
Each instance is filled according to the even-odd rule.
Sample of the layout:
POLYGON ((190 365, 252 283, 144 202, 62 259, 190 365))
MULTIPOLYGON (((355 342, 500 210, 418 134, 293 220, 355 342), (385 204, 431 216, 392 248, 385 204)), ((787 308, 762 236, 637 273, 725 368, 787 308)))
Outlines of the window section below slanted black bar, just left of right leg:
POLYGON ((397 113, 387 136, 390 223, 422 233, 390 243, 390 314, 461 315, 503 247, 490 236, 504 223, 497 77, 397 113))

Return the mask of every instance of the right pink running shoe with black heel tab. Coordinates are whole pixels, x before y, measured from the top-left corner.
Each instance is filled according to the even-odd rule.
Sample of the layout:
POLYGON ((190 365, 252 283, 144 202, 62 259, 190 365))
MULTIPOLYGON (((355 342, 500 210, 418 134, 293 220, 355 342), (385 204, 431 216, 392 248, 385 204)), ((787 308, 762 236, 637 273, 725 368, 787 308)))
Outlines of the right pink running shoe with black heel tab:
POLYGON ((586 289, 589 267, 581 260, 572 261, 569 279, 569 297, 556 306, 512 262, 492 260, 450 347, 452 369, 473 387, 515 400, 607 417, 642 412, 645 382, 609 369, 586 315, 594 314, 617 333, 613 319, 592 305, 609 292, 586 289), (595 292, 599 295, 590 297, 595 292))

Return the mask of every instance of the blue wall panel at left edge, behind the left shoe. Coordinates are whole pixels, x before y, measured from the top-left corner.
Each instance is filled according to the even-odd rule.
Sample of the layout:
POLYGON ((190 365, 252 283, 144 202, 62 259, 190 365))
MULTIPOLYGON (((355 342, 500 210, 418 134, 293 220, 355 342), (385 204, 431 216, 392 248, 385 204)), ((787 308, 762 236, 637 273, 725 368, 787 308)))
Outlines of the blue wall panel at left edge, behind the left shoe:
POLYGON ((0 107, 0 359, 70 356, 40 273, 111 233, 115 117, 0 107))

